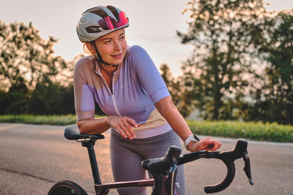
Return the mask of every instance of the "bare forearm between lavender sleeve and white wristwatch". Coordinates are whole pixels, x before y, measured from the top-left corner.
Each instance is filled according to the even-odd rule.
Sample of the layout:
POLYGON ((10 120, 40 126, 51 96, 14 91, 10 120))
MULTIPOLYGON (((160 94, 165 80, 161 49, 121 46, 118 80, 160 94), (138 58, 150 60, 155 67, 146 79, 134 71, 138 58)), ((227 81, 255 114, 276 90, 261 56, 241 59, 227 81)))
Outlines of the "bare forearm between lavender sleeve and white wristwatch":
POLYGON ((178 136, 185 141, 192 132, 183 116, 173 105, 171 97, 165 97, 155 104, 160 114, 167 120, 178 136))

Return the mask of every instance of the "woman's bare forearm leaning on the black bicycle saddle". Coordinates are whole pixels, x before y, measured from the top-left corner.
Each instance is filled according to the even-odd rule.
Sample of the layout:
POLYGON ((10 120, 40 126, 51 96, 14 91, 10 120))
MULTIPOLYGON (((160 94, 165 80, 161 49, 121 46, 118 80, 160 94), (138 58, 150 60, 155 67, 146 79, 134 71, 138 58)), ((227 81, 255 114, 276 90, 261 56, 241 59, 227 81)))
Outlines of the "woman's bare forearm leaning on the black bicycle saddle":
POLYGON ((108 125, 109 119, 110 117, 84 119, 78 121, 76 124, 81 134, 101 134, 110 128, 108 125))

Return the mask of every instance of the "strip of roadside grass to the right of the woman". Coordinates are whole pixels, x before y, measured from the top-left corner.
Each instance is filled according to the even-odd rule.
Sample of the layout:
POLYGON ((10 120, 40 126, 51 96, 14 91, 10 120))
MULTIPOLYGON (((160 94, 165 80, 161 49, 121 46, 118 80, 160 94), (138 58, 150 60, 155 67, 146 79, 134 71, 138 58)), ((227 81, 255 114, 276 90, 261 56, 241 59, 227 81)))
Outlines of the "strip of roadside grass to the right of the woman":
POLYGON ((293 126, 236 121, 187 121, 194 134, 245 138, 257 141, 293 142, 293 126))

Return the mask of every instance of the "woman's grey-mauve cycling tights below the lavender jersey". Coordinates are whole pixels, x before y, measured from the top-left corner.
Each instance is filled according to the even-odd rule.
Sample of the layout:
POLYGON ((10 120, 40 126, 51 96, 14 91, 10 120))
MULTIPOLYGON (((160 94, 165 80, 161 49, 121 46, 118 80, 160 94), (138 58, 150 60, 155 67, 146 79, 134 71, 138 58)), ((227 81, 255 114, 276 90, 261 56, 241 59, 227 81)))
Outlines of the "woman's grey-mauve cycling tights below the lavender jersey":
MULTIPOLYGON (((179 136, 173 129, 162 135, 133 140, 122 138, 117 131, 112 129, 110 157, 114 181, 146 179, 146 170, 141 166, 142 160, 163 157, 172 145, 181 148, 179 136)), ((149 177, 152 178, 150 173, 149 177)), ((178 195, 185 194, 183 165, 178 166, 175 183, 178 195)), ((120 195, 147 195, 145 187, 117 189, 117 191, 120 195)))

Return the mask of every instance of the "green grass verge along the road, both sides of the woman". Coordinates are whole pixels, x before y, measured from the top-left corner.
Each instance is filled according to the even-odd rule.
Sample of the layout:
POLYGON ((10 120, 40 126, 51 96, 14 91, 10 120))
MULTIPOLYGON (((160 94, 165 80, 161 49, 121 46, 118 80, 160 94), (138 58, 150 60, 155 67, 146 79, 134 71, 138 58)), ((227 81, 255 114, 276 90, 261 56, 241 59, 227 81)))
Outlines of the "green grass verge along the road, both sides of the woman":
MULTIPOLYGON (((96 116, 104 117, 104 116, 96 116)), ((76 124, 76 116, 69 115, 0 115, 2 123, 46 124, 67 126, 76 124)), ((194 134, 244 138, 257 141, 293 143, 293 126, 277 123, 236 121, 187 121, 194 134)))

